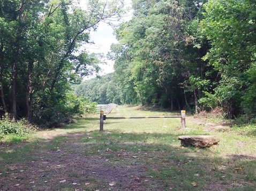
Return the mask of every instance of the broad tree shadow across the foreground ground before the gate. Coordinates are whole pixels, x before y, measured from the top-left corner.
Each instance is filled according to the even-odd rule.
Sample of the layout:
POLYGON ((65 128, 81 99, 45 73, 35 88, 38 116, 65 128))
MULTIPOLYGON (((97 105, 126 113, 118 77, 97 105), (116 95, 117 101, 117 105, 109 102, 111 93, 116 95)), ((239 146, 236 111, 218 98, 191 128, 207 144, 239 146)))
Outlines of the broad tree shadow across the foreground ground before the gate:
MULTIPOLYGON (((47 174, 51 174, 50 180, 61 177, 61 180, 69 181, 69 174, 79 168, 82 176, 76 179, 79 180, 80 187, 78 185, 74 187, 80 190, 86 189, 82 185, 85 185, 84 177, 88 174, 90 176, 95 174, 96 179, 103 179, 106 182, 122 182, 116 190, 124 190, 127 184, 131 184, 126 176, 140 177, 139 179, 134 177, 135 181, 132 182, 138 186, 141 186, 139 181, 144 181, 143 177, 146 177, 145 180, 152 177, 150 185, 144 187, 144 190, 254 190, 256 186, 255 157, 246 155, 220 157, 212 149, 181 147, 177 135, 172 133, 117 131, 94 131, 76 138, 74 135, 59 136, 48 142, 39 139, 20 144, 19 147, 1 149, 0 165, 5 167, 0 172, 4 173, 5 177, 0 177, 0 185, 2 184, 4 190, 11 189, 10 185, 16 185, 12 182, 16 180, 11 178, 6 164, 12 166, 29 164, 33 165, 33 168, 28 168, 26 173, 31 176, 24 176, 22 179, 24 184, 20 185, 25 189, 29 186, 29 180, 36 179, 35 173, 32 172, 44 168, 44 160, 47 160, 47 166, 51 166, 47 170, 47 174), (79 143, 82 143, 80 147, 79 143), (34 159, 29 157, 32 154, 34 159), (56 163, 56 158, 61 158, 62 164, 72 162, 72 165, 61 166, 58 161, 56 163), (42 161, 42 166, 37 162, 31 163, 32 160, 38 163, 42 161), (109 161, 110 165, 108 165, 109 161), (60 170, 62 174, 58 173, 60 170), (153 186, 155 187, 152 188, 153 186)), ((42 185, 42 190, 48 190, 50 180, 48 184, 42 185)), ((58 185, 59 182, 52 183, 50 185, 52 189, 57 187, 54 184, 58 185)), ((96 188, 100 188, 99 186, 96 188)))

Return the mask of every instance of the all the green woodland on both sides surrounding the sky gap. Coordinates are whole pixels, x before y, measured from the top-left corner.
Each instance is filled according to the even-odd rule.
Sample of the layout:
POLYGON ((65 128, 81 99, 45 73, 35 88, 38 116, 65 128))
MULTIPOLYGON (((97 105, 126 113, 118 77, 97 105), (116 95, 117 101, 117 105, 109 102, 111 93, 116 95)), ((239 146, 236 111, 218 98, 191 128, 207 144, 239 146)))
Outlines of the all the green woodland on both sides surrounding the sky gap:
POLYGON ((89 32, 126 12, 117 0, 86 8, 68 0, 0 1, 2 115, 50 128, 96 101, 218 109, 254 123, 252 0, 133 0, 133 17, 116 28, 119 43, 108 54, 115 72, 82 82, 102 58, 81 49, 89 32))

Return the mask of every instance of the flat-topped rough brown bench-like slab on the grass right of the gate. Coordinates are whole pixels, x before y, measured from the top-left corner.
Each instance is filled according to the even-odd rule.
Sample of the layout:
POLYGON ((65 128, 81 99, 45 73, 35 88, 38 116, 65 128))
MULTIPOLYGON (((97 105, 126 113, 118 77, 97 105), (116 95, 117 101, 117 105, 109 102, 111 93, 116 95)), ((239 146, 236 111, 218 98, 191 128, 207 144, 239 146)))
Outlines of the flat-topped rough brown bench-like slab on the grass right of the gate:
POLYGON ((194 146, 207 148, 217 145, 220 138, 217 136, 179 136, 180 144, 184 147, 194 146))

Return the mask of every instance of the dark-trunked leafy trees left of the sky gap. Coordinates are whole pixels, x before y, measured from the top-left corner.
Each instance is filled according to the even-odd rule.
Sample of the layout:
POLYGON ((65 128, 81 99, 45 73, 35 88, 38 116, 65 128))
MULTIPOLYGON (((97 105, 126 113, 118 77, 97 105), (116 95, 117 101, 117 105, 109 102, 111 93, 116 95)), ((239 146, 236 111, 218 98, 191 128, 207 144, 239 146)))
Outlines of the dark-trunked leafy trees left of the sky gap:
POLYGON ((53 126, 65 114, 70 82, 97 70, 81 50, 89 31, 121 16, 122 1, 0 1, 0 112, 53 126))

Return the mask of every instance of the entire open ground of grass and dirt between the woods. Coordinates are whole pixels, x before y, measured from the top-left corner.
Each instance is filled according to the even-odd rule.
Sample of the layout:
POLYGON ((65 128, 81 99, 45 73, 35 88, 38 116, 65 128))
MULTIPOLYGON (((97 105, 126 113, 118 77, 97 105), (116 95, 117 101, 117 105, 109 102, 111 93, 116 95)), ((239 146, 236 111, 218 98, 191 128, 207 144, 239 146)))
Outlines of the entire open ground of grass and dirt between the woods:
MULTIPOLYGON (((119 106, 108 116, 170 116, 119 106)), ((26 142, 0 144, 0 190, 255 190, 255 131, 186 116, 104 121, 99 114, 26 142), (180 135, 209 134, 219 145, 181 147, 180 135)))

